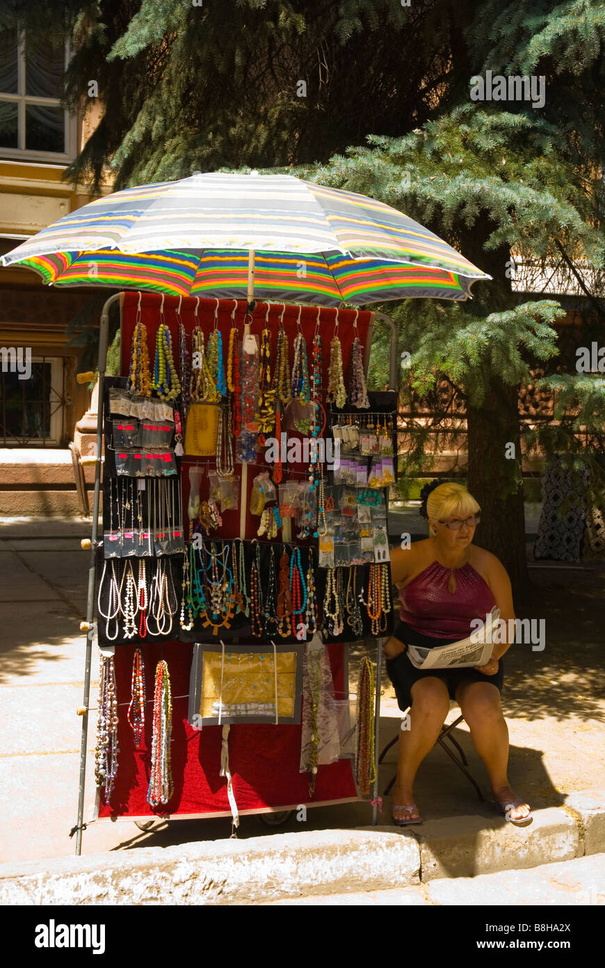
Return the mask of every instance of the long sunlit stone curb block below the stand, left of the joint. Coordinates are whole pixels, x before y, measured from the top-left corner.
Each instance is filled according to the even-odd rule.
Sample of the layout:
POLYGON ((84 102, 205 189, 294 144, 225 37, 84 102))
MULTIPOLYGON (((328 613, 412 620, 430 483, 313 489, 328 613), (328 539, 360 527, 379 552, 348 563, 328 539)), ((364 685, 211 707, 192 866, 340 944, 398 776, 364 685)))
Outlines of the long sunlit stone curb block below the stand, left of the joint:
POLYGON ((410 834, 277 833, 0 865, 0 904, 255 904, 419 883, 410 834))

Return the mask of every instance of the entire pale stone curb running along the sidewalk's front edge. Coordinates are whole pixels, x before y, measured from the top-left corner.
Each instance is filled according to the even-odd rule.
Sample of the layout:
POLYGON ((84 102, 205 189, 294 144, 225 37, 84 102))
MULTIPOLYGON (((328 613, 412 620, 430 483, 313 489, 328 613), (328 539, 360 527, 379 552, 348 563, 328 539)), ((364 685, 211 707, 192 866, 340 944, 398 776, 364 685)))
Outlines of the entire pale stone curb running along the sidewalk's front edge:
POLYGON ((447 817, 421 827, 277 833, 0 864, 0 904, 258 904, 381 891, 605 851, 605 791, 570 795, 533 824, 447 817))

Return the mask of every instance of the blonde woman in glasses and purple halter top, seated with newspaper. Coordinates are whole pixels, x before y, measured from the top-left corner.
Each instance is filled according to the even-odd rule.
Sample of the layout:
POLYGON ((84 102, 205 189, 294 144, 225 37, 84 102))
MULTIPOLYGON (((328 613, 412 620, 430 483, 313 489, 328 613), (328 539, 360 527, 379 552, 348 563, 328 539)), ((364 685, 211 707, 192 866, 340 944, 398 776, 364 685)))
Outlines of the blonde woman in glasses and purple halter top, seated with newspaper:
POLYGON ((439 481, 425 485, 421 498, 420 514, 428 519, 430 537, 391 553, 401 622, 385 647, 387 672, 400 709, 411 706, 410 729, 399 734, 392 819, 401 827, 421 823, 414 780, 441 732, 449 700, 455 699, 487 769, 499 810, 511 823, 526 826, 532 813, 508 782, 508 730, 500 705, 502 656, 511 643, 495 644, 489 662, 473 668, 421 671, 406 655, 409 643, 434 647, 467 638, 471 621, 484 621, 494 605, 502 620, 515 618, 504 566, 473 544, 480 521, 475 498, 462 484, 439 481))

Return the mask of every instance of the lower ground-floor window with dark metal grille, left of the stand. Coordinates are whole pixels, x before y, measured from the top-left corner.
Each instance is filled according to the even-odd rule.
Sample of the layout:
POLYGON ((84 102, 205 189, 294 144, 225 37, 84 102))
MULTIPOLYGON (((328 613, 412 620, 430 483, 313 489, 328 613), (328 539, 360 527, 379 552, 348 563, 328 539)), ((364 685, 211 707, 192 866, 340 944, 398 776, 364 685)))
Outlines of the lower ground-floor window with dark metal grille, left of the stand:
POLYGON ((33 356, 29 379, 0 366, 0 446, 58 447, 64 414, 62 357, 33 356))

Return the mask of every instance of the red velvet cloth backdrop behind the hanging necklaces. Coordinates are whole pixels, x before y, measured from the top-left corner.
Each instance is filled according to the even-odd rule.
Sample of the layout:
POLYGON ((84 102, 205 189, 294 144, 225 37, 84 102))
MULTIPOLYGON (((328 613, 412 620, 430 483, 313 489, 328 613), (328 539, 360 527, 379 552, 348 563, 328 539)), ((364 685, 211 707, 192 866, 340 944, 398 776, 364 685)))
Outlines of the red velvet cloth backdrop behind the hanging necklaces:
MULTIPOLYGON (((139 294, 127 292, 122 295, 122 374, 128 374, 130 360, 130 343, 132 330, 136 318, 139 294)), ((149 340, 149 355, 152 362, 155 357, 156 333, 158 330, 159 307, 161 296, 153 293, 141 295, 141 318, 147 326, 149 340)), ((235 310, 235 322, 241 333, 245 321, 245 302, 235 303, 235 300, 221 300, 218 304, 218 328, 222 333, 223 352, 226 355, 229 329, 232 325, 232 311, 235 310)), ((175 361, 178 350, 178 319, 176 310, 179 299, 166 296, 163 303, 164 321, 170 327, 175 361)), ((257 304, 250 320, 250 332, 259 335, 268 325, 275 333, 279 325, 282 306, 265 303, 257 304), (267 309, 269 308, 269 322, 267 309)), ((317 321, 317 309, 313 307, 286 306, 283 314, 283 326, 290 342, 290 365, 292 364, 292 343, 297 333, 301 310, 300 324, 306 339, 310 369, 310 348, 317 321)), ((215 327, 215 299, 195 298, 183 299, 181 303, 181 318, 190 334, 194 325, 199 324, 207 335, 215 327), (197 323, 194 316, 197 304, 197 323)), ((355 338, 354 321, 357 325, 361 343, 366 348, 368 334, 371 332, 372 314, 360 312, 359 315, 351 310, 338 311, 338 336, 342 345, 342 356, 345 373, 345 383, 348 385, 350 352, 355 338)), ((328 382, 328 362, 330 357, 330 341, 334 332, 336 310, 321 309, 319 314, 320 329, 324 348, 324 388, 328 382)), ((274 346, 273 346, 274 354, 274 346)), ((273 361, 272 361, 273 362, 273 361)), ((187 457, 183 466, 183 504, 187 511, 188 477, 187 457)), ((207 464, 208 469, 214 469, 214 462, 205 458, 196 458, 190 463, 207 464)), ((261 469, 267 469, 264 463, 258 466, 248 465, 248 492, 245 497, 246 508, 249 506, 249 490, 252 479, 261 469)), ((202 499, 206 497, 204 491, 205 478, 202 479, 202 499)), ((258 519, 246 514, 246 537, 256 533, 258 519)), ((240 532, 240 512, 229 511, 223 516, 223 528, 220 537, 233 537, 240 532)), ((334 689, 338 698, 348 695, 348 683, 344 682, 344 655, 341 644, 328 647, 331 659, 334 689)), ((204 727, 201 732, 194 730, 187 723, 189 667, 191 663, 192 646, 187 643, 145 643, 141 647, 145 661, 145 683, 147 689, 147 707, 145 711, 145 733, 141 748, 136 749, 134 739, 127 720, 130 703, 130 672, 134 647, 119 645, 115 650, 116 689, 119 704, 118 743, 120 747, 119 767, 111 795, 110 803, 104 801, 101 792, 100 816, 153 816, 158 813, 187 816, 194 813, 223 813, 229 812, 226 779, 218 775, 220 770, 221 727, 204 727), (170 802, 158 809, 152 809, 147 802, 149 786, 149 770, 151 755, 152 715, 155 670, 158 661, 165 658, 168 662, 173 697, 171 760, 174 781, 174 794, 170 802)), ((274 726, 265 724, 238 724, 231 726, 229 734, 229 761, 233 777, 233 791, 236 802, 241 810, 254 810, 267 806, 279 807, 295 803, 319 803, 326 801, 347 800, 356 797, 352 764, 349 760, 332 763, 330 766, 319 767, 315 793, 308 798, 306 773, 299 771, 301 758, 301 726, 274 726)))

